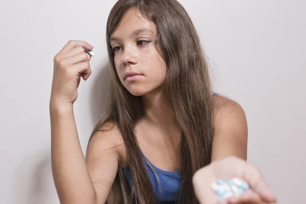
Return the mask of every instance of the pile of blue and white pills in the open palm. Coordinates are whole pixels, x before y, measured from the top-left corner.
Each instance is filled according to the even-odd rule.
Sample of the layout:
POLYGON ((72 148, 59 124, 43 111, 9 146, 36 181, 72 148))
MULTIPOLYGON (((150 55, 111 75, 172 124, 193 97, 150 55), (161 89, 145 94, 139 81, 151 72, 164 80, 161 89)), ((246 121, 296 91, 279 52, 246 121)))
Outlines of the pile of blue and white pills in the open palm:
POLYGON ((234 178, 228 181, 219 179, 217 183, 212 183, 211 188, 218 195, 219 199, 226 199, 232 196, 240 196, 249 189, 249 185, 244 181, 234 178))

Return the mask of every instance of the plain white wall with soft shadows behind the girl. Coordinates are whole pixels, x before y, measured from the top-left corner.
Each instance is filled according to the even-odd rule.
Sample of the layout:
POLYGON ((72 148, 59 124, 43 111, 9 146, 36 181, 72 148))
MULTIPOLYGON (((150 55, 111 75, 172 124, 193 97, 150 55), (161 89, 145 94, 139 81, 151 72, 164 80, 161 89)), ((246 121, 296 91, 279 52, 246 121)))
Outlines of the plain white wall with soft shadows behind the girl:
MULTIPOLYGON (((247 114, 248 160, 263 170, 278 203, 306 203, 306 2, 180 2, 211 59, 218 92, 247 114)), ((108 90, 105 27, 114 3, 1 1, 0 203, 59 203, 50 166, 53 57, 70 39, 95 46, 93 74, 75 104, 85 150, 108 90)))

